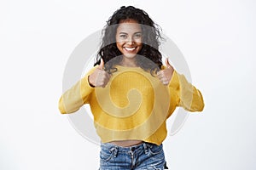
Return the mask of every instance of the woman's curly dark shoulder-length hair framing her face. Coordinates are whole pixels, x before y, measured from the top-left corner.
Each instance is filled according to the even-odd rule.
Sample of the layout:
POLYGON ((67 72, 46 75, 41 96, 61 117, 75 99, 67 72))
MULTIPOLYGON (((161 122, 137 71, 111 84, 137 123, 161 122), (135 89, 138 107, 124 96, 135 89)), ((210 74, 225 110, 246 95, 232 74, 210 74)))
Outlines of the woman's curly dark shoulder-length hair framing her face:
POLYGON ((122 20, 136 20, 142 27, 143 32, 143 47, 137 53, 137 65, 143 68, 144 71, 153 72, 159 71, 162 64, 162 55, 159 51, 160 39, 160 26, 150 19, 148 14, 140 8, 133 6, 122 6, 116 10, 107 21, 107 25, 102 31, 101 47, 96 55, 96 62, 94 65, 99 65, 101 58, 105 63, 105 70, 109 73, 117 71, 113 65, 118 64, 122 59, 122 54, 116 46, 116 31, 122 20), (150 59, 149 62, 145 62, 150 59))

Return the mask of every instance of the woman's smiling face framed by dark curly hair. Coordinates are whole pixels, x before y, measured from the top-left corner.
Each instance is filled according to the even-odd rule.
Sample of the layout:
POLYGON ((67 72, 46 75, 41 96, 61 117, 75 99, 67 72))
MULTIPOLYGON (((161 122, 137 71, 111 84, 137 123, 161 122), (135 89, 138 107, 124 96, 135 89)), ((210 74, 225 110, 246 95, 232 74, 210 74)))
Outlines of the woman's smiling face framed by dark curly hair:
POLYGON ((136 20, 122 20, 116 31, 116 45, 125 58, 132 59, 143 48, 142 28, 136 20))

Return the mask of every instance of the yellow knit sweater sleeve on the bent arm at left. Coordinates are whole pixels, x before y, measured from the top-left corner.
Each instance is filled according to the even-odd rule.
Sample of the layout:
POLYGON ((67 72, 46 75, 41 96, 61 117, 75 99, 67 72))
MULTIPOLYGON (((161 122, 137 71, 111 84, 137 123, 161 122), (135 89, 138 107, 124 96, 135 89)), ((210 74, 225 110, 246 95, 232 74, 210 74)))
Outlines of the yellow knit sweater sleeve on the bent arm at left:
POLYGON ((59 111, 61 114, 73 113, 79 111, 80 107, 89 103, 90 94, 94 88, 90 87, 88 76, 95 71, 96 67, 91 69, 79 82, 76 82, 72 88, 69 88, 59 99, 59 111))

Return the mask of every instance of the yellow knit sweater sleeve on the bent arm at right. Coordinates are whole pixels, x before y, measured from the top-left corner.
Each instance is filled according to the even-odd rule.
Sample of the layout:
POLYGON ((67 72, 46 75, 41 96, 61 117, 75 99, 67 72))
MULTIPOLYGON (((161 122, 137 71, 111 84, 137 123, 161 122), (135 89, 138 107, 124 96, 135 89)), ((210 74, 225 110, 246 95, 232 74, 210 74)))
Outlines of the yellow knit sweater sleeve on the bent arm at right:
POLYGON ((175 96, 177 106, 183 107, 186 111, 203 111, 204 100, 200 90, 196 89, 177 71, 173 71, 169 88, 171 93, 175 94, 171 96, 175 96))

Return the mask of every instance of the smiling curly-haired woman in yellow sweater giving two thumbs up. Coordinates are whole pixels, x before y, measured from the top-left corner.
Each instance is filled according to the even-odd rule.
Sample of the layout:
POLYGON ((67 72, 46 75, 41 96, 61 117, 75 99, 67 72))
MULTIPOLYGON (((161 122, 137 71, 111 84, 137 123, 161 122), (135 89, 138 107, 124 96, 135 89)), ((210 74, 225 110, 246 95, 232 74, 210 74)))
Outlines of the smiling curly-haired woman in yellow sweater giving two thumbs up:
POLYGON ((94 67, 62 94, 61 113, 89 104, 102 140, 100 169, 164 169, 166 119, 177 106, 202 111, 201 92, 159 51, 148 14, 121 7, 109 18, 94 67))

